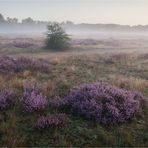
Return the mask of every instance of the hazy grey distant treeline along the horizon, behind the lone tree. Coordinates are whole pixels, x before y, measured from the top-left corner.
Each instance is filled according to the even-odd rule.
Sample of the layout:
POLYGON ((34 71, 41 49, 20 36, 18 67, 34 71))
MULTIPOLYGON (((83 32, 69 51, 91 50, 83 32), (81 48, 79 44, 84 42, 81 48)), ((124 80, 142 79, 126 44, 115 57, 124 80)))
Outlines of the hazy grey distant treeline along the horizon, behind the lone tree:
MULTIPOLYGON (((99 20, 98 20, 99 21, 99 20)), ((40 20, 33 20, 31 17, 22 19, 21 22, 18 21, 17 18, 10 18, 7 17, 6 19, 2 14, 0 14, 0 29, 3 28, 16 28, 16 27, 35 27, 35 28, 44 28, 48 25, 50 21, 40 21, 40 20)), ((80 29, 80 30, 109 30, 109 31, 148 31, 148 25, 119 25, 119 24, 74 24, 71 21, 61 22, 61 26, 66 29, 80 29)))

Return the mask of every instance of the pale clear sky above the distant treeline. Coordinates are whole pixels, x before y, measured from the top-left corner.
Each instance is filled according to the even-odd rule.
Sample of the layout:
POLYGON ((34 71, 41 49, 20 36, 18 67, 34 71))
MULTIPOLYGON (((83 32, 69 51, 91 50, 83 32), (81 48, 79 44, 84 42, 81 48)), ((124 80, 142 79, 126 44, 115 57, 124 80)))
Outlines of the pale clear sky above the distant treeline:
POLYGON ((0 13, 19 20, 148 24, 148 0, 0 0, 0 13))

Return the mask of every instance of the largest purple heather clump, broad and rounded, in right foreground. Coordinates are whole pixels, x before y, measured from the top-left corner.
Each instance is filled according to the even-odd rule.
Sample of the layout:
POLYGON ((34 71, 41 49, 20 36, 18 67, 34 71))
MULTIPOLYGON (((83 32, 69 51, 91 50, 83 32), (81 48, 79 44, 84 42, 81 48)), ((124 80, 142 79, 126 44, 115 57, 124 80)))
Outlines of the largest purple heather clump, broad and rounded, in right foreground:
POLYGON ((131 119, 143 102, 143 96, 137 92, 100 82, 82 85, 63 99, 56 97, 51 105, 102 124, 116 124, 131 119))

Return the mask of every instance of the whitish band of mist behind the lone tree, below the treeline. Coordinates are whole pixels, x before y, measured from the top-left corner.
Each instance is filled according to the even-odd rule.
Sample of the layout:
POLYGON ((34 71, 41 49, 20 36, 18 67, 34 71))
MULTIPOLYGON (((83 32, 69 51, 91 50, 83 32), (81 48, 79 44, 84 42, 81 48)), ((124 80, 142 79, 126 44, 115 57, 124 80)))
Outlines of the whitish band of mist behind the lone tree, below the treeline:
MULTIPOLYGON (((1 35, 37 35, 45 36, 48 22, 0 24, 1 35)), ((72 22, 61 23, 66 33, 71 37, 82 38, 128 38, 147 37, 148 26, 128 26, 118 24, 74 24, 72 22)))

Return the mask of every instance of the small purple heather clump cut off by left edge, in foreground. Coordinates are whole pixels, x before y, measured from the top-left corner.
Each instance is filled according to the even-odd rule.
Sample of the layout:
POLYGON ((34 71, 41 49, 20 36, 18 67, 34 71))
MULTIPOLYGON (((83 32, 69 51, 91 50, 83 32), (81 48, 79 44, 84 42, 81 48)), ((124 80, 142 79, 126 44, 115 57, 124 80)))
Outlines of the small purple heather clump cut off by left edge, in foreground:
POLYGON ((3 90, 0 92, 0 109, 5 109, 9 107, 12 103, 12 97, 14 93, 9 90, 3 90))

